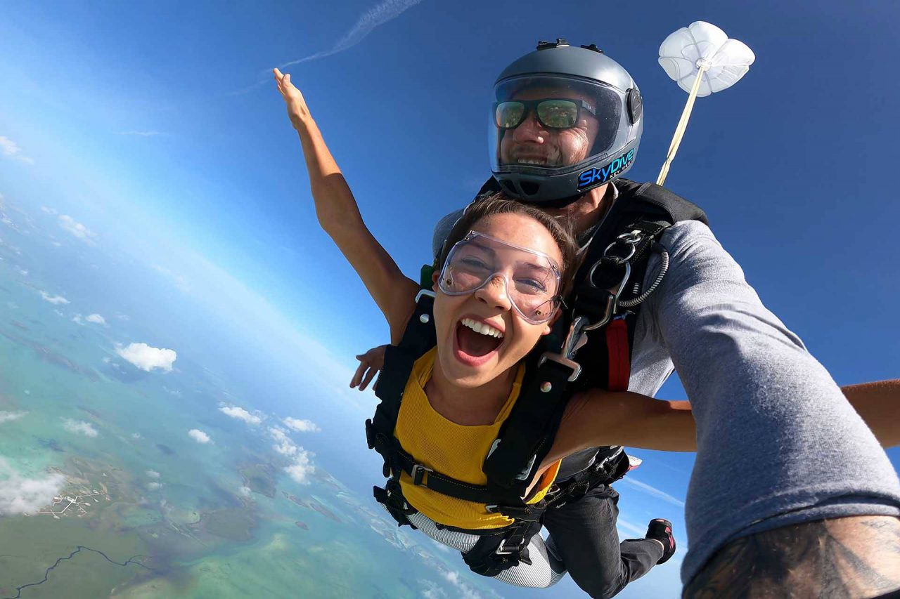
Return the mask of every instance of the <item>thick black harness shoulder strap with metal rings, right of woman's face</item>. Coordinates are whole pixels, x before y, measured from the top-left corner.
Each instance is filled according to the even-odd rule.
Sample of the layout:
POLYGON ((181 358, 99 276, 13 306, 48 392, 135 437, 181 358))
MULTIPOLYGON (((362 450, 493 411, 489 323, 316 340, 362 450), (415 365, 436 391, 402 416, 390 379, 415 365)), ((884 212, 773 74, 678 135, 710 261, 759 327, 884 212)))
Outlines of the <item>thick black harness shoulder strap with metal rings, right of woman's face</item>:
MULTIPOLYGON (((485 187, 489 184, 490 182, 486 183, 485 187)), ((568 318, 561 318, 553 338, 548 338, 547 344, 539 346, 529 356, 530 373, 527 372, 526 381, 523 382, 521 396, 501 428, 498 442, 495 442, 484 462, 483 470, 488 477, 488 484, 497 488, 498 493, 520 491, 518 484, 522 482, 523 475, 527 475, 524 476, 526 483, 531 480, 537 466, 553 445, 565 405, 572 392, 596 387, 609 389, 611 376, 615 376, 617 389, 627 389, 639 306, 605 315, 603 312, 608 306, 610 290, 618 287, 616 293, 621 293, 619 297, 634 299, 640 290, 635 290, 633 285, 626 283, 643 281, 653 243, 662 231, 680 220, 697 219, 707 223, 703 210, 659 185, 635 183, 627 179, 617 179, 616 185, 619 197, 595 232, 585 262, 576 275, 579 283, 572 300, 572 314, 568 318), (627 272, 618 267, 594 269, 591 272, 593 265, 603 258, 610 244, 615 243, 623 234, 635 230, 642 233, 643 241, 635 246, 635 255, 632 256, 627 272), (586 285, 591 274, 595 284, 586 285), (547 347, 563 347, 565 330, 572 326, 574 315, 579 314, 587 315, 595 323, 604 317, 608 317, 609 321, 588 334, 588 343, 582 350, 579 362, 590 364, 590 368, 585 369, 580 377, 576 376, 578 380, 572 384, 572 366, 563 362, 546 361, 540 368, 536 368, 536 357, 547 347), (609 323, 611 325, 607 326, 609 323), (616 346, 611 347, 613 344, 616 346), (547 386, 551 389, 545 392, 547 386)), ((563 349, 557 355, 566 354, 567 350, 563 349)))

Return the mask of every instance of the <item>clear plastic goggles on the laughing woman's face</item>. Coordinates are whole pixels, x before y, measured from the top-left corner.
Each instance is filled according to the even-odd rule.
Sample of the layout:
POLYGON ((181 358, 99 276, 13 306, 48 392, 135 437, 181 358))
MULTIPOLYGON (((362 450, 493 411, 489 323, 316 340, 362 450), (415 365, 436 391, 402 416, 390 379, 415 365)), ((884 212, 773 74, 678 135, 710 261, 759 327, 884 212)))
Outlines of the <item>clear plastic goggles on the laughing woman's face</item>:
POLYGON ((482 289, 500 277, 519 316, 540 325, 562 303, 560 269, 548 255, 470 231, 447 254, 437 286, 447 295, 482 289))

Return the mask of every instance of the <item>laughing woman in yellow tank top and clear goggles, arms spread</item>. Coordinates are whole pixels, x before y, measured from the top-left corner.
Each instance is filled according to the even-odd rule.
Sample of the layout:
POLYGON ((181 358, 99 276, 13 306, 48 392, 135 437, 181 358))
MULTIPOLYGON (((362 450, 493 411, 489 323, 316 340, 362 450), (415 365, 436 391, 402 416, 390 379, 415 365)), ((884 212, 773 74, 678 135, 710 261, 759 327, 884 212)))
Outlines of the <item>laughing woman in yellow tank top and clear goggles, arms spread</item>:
MULTIPOLYGON (((413 314, 419 284, 400 272, 365 227, 353 194, 290 76, 275 69, 275 79, 301 139, 320 225, 365 283, 390 326, 392 343, 397 344, 413 314)), ((572 237, 554 219, 502 197, 468 210, 447 246, 452 249, 437 264, 433 279, 437 346, 415 364, 395 436, 419 463, 483 485, 482 463, 518 398, 524 371, 521 361, 550 332, 566 283, 575 272, 577 252, 572 237), (428 427, 422 422, 428 422, 428 427), (436 427, 443 434, 435 434, 436 427), (478 449, 460 452, 460 445, 478 449)), ((553 459, 545 460, 532 480, 525 497, 528 503, 545 496, 559 458, 572 451, 595 445, 688 451, 694 443, 689 412, 669 402, 596 390, 582 394, 573 406, 578 407, 579 418, 564 419, 553 459), (616 419, 598 417, 614 409, 616 419), (595 424, 579 427, 576 421, 581 418, 595 424), (570 429, 576 433, 567 432, 570 429), (660 429, 678 431, 680 437, 654 433, 660 429)), ((412 484, 405 474, 400 485, 416 511, 410 514, 410 522, 456 549, 472 548, 477 534, 465 531, 500 529, 511 522, 491 513, 486 505, 437 496, 412 484)), ((660 521, 655 529, 651 526, 658 529, 658 538, 648 541, 653 556, 647 569, 669 559, 675 549, 671 524, 660 521)), ((563 576, 564 571, 550 567, 539 535, 532 537, 529 550, 531 564, 523 562, 498 578, 512 584, 549 586, 563 576)))

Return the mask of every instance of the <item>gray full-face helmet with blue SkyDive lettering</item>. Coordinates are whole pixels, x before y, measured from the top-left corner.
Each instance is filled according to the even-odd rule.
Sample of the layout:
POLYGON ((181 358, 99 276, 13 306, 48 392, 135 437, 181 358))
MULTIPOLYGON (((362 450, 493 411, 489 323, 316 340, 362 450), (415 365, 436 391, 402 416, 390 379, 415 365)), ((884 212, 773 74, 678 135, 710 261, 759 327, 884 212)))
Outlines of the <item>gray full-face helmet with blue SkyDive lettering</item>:
POLYGON ((500 73, 494 95, 491 171, 509 195, 564 205, 634 164, 641 93, 593 44, 539 42, 500 73))

